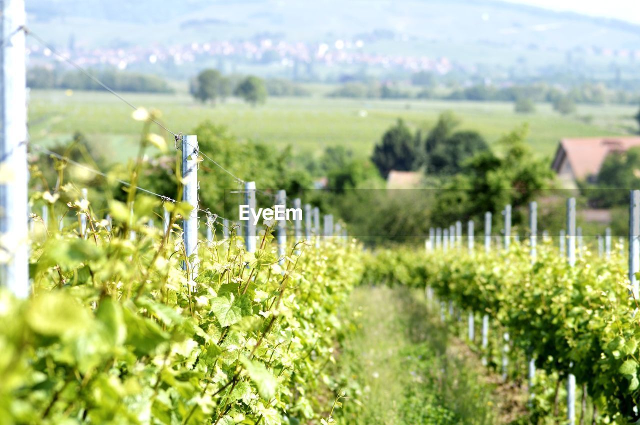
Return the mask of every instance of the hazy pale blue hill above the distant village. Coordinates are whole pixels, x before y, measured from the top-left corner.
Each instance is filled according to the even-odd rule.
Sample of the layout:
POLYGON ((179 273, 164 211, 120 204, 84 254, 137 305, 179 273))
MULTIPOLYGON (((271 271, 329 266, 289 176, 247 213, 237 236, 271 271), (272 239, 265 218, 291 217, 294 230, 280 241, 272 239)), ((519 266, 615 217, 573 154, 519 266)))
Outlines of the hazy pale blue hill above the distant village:
POLYGON ((58 45, 148 47, 211 40, 361 39, 372 53, 424 54, 531 73, 640 56, 640 26, 492 0, 28 0, 29 25, 58 45), (513 69, 511 69, 513 68, 513 69))

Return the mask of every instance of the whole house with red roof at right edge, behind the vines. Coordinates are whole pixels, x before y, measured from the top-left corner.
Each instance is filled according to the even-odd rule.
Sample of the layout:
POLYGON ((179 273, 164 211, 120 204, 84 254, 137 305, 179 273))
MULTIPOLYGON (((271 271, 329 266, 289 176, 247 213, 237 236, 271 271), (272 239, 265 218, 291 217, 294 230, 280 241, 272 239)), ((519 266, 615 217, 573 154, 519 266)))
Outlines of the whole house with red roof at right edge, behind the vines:
POLYGON ((595 181, 609 153, 625 152, 636 146, 640 146, 640 137, 562 139, 551 167, 564 188, 575 189, 579 181, 595 181))

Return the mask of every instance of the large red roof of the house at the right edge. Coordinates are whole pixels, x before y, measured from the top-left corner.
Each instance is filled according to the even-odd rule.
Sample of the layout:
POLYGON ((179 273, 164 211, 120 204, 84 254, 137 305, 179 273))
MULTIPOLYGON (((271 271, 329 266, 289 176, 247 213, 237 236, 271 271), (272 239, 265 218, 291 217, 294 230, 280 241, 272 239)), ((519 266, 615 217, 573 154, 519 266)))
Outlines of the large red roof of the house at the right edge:
POLYGON ((640 146, 640 137, 582 137, 562 139, 556 151, 553 169, 559 171, 562 158, 566 155, 573 176, 582 180, 596 175, 602 167, 604 158, 612 151, 627 151, 640 146))

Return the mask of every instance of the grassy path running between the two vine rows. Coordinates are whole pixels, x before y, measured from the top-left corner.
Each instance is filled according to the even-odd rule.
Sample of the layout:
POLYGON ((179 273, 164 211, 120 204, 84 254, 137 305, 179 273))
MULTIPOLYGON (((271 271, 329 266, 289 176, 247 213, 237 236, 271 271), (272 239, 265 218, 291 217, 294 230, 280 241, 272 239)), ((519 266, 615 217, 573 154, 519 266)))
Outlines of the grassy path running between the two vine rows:
POLYGON ((499 424, 522 421, 526 394, 503 384, 431 312, 420 291, 361 287, 358 330, 339 367, 349 424, 499 424))

